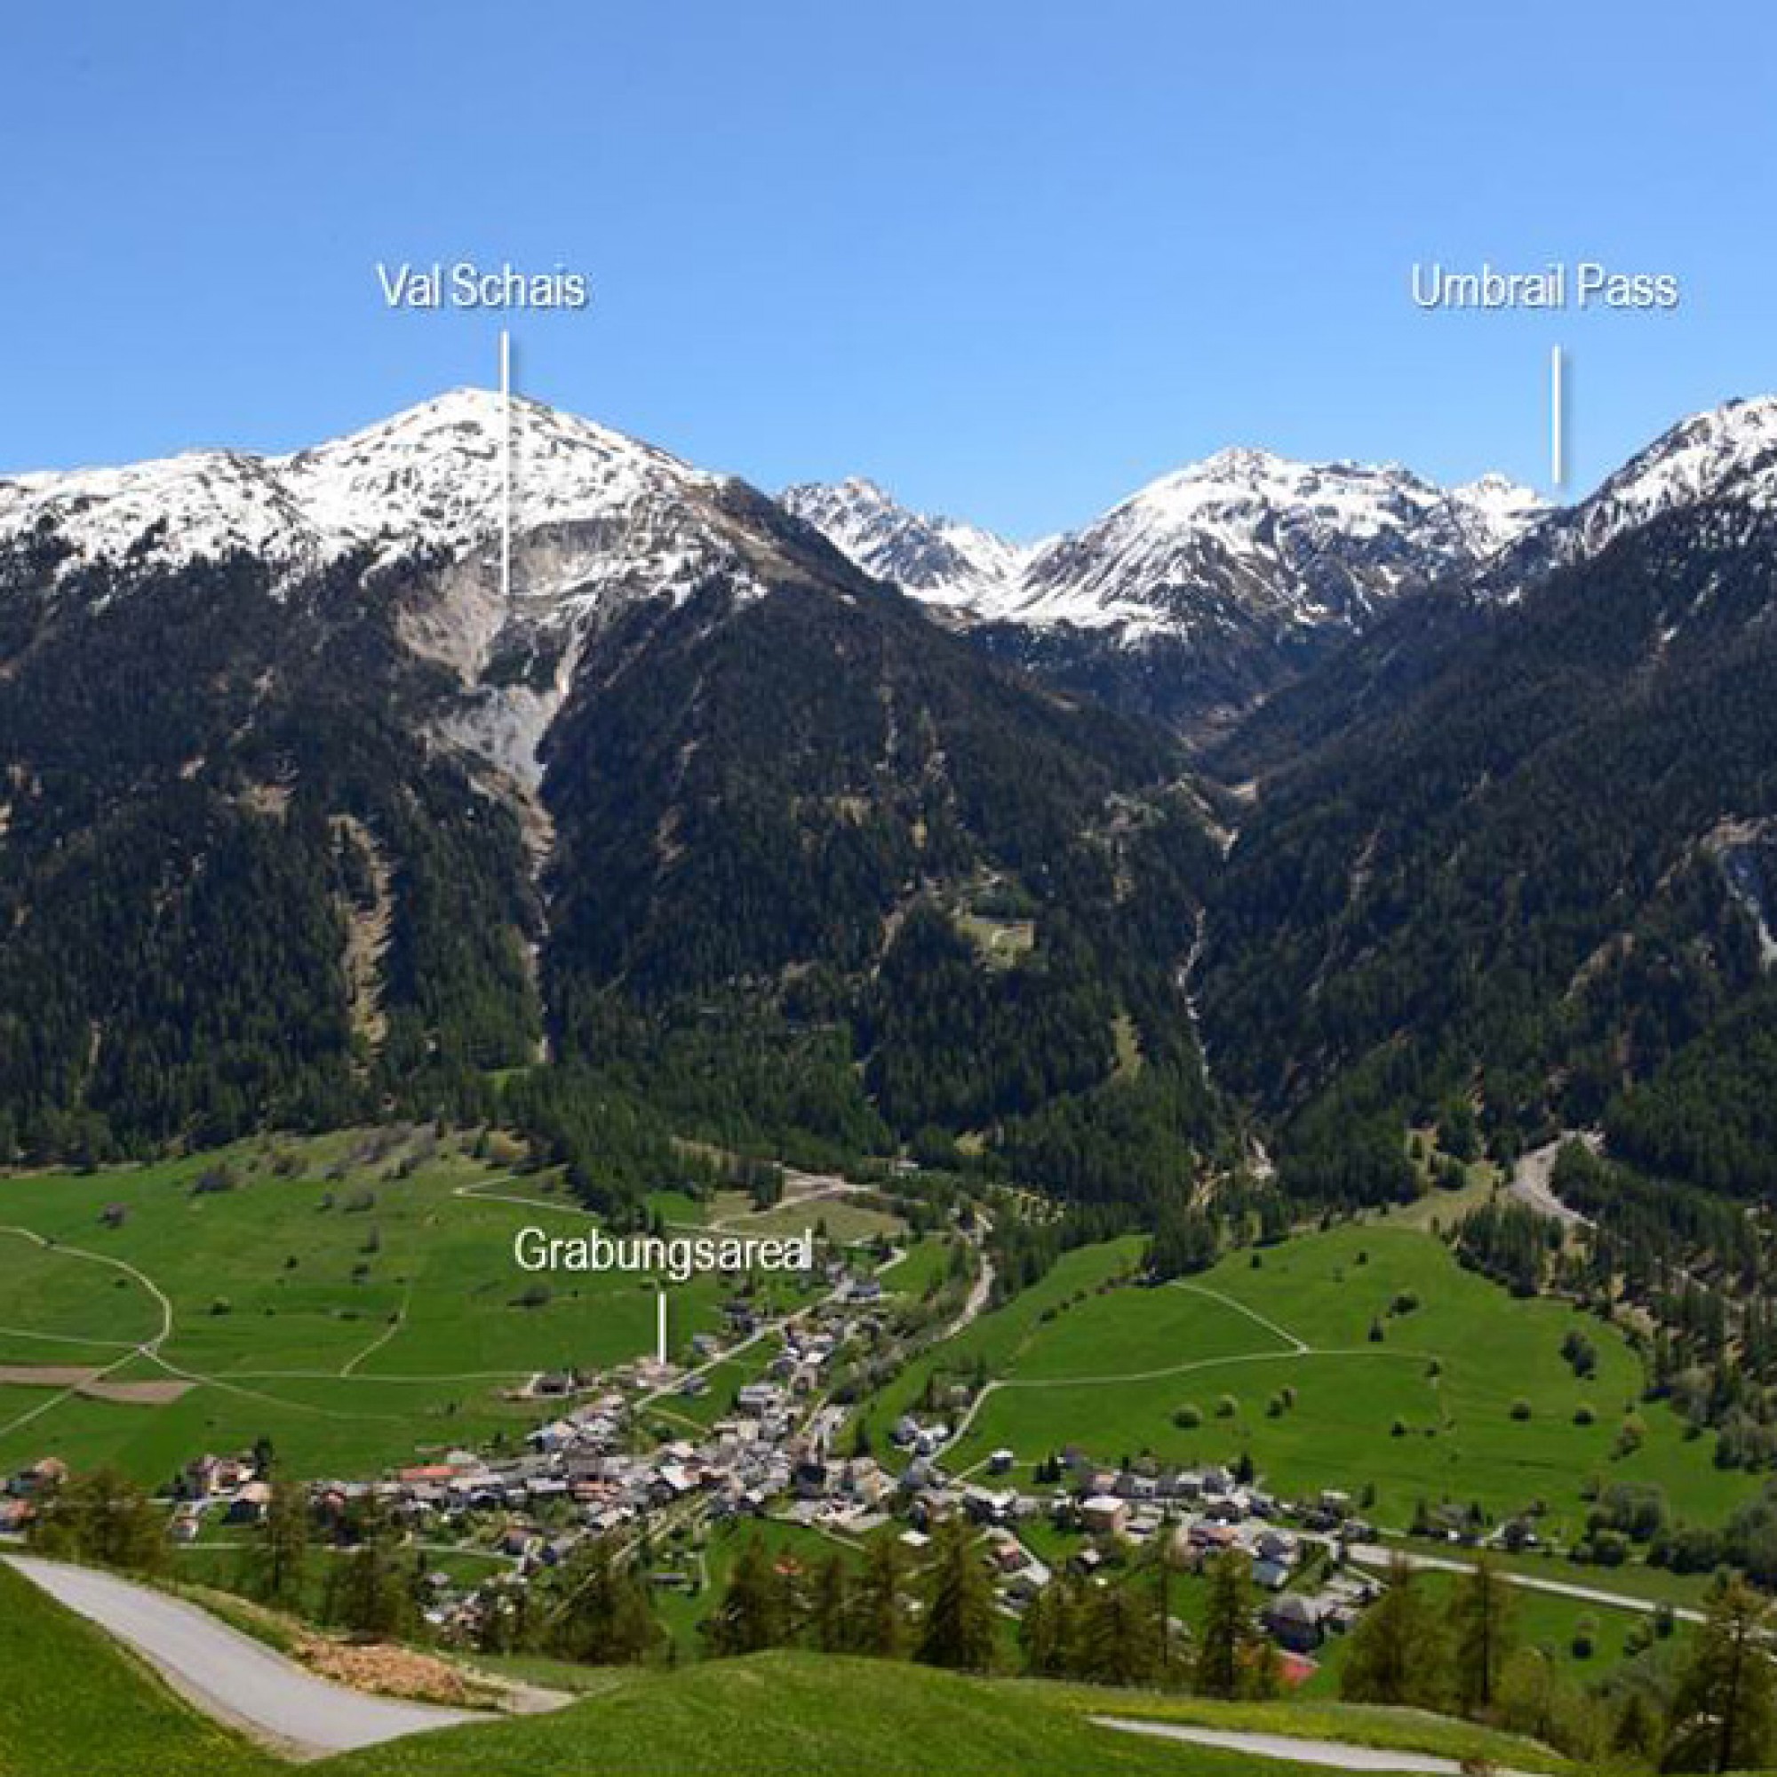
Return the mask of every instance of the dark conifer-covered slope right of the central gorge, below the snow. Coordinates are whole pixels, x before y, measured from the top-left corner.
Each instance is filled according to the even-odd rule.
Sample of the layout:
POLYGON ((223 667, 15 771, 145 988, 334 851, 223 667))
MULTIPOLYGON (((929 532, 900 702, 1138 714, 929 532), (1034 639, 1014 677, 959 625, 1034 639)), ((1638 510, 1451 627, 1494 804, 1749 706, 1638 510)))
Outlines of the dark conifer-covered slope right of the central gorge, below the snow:
POLYGON ((1398 700, 1276 768, 1203 972, 1217 1066, 1297 1118, 1304 1185, 1359 1196, 1398 1167, 1352 1160, 1340 1125, 1470 1096, 1507 1143, 1592 1121, 1686 1054, 1749 1047, 1770 963, 1765 503, 1660 514, 1436 636, 1398 700))

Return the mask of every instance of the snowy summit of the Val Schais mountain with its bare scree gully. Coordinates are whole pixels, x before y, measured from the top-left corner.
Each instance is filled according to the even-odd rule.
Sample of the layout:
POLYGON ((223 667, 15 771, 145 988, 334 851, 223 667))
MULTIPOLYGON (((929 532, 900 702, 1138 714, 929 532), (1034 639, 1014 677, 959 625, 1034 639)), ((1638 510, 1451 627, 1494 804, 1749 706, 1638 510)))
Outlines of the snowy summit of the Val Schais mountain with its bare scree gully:
POLYGON ((638 601, 720 586, 732 606, 832 579, 746 483, 538 402, 508 416, 482 389, 293 455, 210 450, 0 482, 0 583, 36 597, 103 610, 229 562, 297 604, 345 565, 363 617, 457 684, 416 716, 421 732, 519 785, 538 782, 588 638, 638 601))

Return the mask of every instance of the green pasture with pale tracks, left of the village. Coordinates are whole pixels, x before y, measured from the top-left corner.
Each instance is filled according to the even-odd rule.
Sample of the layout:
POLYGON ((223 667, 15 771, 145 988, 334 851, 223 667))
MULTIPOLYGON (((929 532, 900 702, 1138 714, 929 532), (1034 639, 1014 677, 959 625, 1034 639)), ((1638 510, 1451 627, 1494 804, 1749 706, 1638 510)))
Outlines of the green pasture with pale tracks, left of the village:
MULTIPOLYGON (((519 1271, 528 1224, 583 1233, 588 1215, 547 1173, 386 1132, 4 1178, 0 1471, 60 1455, 162 1482, 265 1434, 297 1473, 350 1475, 521 1436, 546 1409, 512 1391, 650 1352, 656 1317, 650 1279, 519 1271), (43 1367, 185 1393, 21 1386, 43 1367)), ((720 1327, 723 1294, 711 1276, 672 1288, 681 1356, 720 1327)))

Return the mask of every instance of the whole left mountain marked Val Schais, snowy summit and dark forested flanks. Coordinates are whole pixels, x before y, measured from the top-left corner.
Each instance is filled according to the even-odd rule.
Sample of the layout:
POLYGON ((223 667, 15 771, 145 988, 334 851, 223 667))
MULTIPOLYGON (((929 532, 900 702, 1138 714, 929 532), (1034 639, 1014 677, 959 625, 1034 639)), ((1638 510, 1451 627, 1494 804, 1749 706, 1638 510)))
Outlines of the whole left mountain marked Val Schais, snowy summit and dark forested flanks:
POLYGON ((503 423, 0 485, 0 1148, 501 1093, 624 1201, 668 1130, 1029 1153, 1109 1093, 1151 1155, 1031 1164, 1182 1189, 1217 855, 1176 743, 530 403, 503 601, 503 423))

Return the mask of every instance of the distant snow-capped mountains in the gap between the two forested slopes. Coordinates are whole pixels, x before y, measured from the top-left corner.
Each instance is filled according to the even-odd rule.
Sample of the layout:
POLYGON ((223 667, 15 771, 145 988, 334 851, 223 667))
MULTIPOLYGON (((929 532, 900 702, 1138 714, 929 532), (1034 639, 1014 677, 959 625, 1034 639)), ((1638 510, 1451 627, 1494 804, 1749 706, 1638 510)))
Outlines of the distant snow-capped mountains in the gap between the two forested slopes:
POLYGON ((1470 574, 1548 510, 1503 476, 1439 489, 1397 467, 1226 450, 1084 530, 1018 549, 869 482, 784 503, 983 647, 1114 704, 1221 723, 1398 597, 1470 574))

